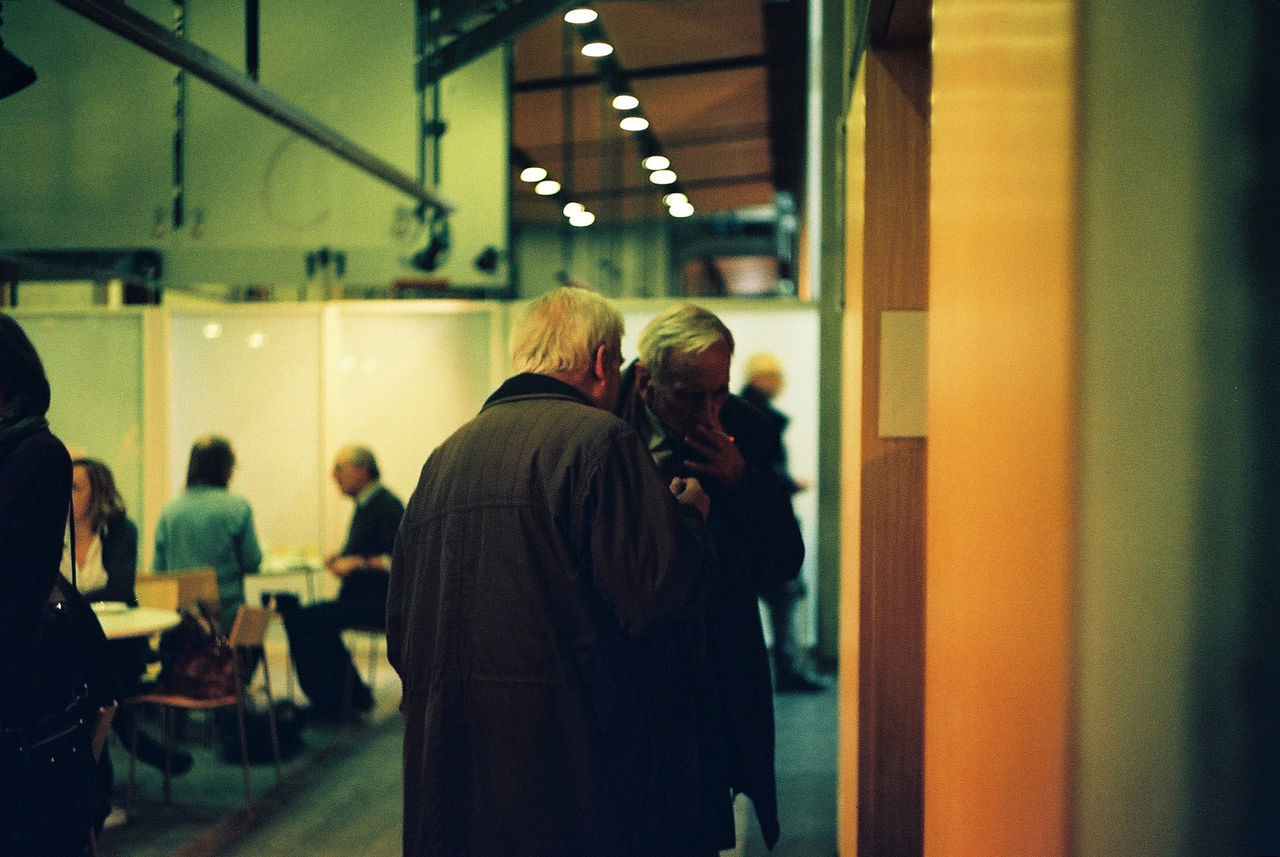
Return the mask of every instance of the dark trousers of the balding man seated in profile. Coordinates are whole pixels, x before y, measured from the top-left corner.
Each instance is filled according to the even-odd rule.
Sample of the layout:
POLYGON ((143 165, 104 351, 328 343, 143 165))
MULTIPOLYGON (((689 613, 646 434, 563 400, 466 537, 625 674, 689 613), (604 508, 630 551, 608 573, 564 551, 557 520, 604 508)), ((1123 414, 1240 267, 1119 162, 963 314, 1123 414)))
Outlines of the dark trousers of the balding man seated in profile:
POLYGON ((352 710, 372 707, 372 691, 356 672, 342 632, 357 625, 387 625, 387 574, 356 572, 343 582, 337 601, 282 613, 298 686, 317 712, 334 716, 343 712, 348 680, 352 710))

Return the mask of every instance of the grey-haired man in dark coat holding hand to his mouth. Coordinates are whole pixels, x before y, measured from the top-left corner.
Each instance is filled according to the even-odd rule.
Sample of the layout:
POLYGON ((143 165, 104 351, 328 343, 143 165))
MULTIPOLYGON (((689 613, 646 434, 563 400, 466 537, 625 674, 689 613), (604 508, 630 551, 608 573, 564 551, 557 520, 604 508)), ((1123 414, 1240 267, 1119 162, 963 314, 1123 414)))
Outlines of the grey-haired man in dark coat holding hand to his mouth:
POLYGON ((623 375, 618 414, 664 473, 696 477, 712 498, 708 524, 719 574, 691 623, 704 634, 714 691, 700 714, 712 720, 699 732, 704 776, 713 790, 751 798, 772 848, 778 839, 773 688, 758 594, 800 573, 800 524, 787 487, 768 466, 776 436, 768 418, 730 394, 728 327, 701 307, 678 304, 645 326, 639 349, 623 375))

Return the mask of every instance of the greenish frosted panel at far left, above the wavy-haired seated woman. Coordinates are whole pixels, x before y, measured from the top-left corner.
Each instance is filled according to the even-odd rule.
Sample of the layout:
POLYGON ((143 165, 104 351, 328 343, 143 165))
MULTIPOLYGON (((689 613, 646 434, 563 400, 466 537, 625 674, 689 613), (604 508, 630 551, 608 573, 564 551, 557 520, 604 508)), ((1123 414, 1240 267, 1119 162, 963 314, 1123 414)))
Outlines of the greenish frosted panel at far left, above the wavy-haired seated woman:
POLYGON ((101 459, 141 526, 141 312, 14 312, 52 388, 49 425, 72 455, 101 459))

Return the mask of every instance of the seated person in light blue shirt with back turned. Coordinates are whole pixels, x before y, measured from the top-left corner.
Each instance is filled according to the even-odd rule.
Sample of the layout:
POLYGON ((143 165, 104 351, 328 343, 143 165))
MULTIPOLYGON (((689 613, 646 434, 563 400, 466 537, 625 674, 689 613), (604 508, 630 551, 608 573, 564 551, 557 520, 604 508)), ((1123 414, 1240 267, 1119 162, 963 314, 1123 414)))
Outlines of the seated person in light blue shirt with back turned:
POLYGON ((236 453, 225 437, 209 435, 191 448, 187 490, 160 512, 156 523, 156 572, 211 567, 218 572, 221 632, 230 633, 244 604, 244 576, 257 573, 262 547, 248 500, 227 490, 236 453))

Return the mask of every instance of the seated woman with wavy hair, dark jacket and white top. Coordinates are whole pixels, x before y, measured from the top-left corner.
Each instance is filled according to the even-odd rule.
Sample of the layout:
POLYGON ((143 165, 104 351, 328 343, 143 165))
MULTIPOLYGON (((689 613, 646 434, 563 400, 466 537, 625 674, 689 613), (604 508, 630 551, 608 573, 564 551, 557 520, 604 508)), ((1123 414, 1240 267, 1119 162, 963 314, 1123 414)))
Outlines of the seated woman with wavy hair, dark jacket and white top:
MULTIPOLYGON (((90 601, 123 601, 136 606, 133 582, 138 569, 138 528, 125 515, 124 498, 111 471, 92 458, 72 460, 72 517, 76 546, 76 588, 90 601)), ((72 578, 72 545, 63 553, 63 576, 72 578)), ((120 692, 132 696, 142 689, 142 674, 151 660, 146 637, 109 640, 108 651, 120 692)), ((137 715, 122 706, 111 728, 125 747, 133 738, 137 715)), ((106 756, 104 755, 104 759, 106 756)), ((138 760, 164 767, 164 747, 146 732, 138 732, 138 760)), ((174 750, 172 770, 180 776, 191 770, 191 753, 174 750)))

